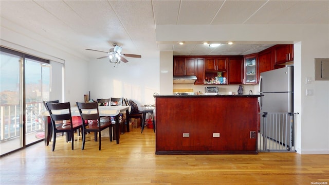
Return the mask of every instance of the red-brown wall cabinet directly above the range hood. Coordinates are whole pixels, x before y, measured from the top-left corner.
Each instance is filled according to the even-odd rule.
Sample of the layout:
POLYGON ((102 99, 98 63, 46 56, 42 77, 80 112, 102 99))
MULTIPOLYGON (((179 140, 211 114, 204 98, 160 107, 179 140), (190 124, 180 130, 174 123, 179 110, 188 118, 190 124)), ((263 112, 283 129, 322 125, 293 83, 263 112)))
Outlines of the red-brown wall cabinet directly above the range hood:
POLYGON ((195 58, 174 57, 174 76, 190 76, 195 74, 195 58))

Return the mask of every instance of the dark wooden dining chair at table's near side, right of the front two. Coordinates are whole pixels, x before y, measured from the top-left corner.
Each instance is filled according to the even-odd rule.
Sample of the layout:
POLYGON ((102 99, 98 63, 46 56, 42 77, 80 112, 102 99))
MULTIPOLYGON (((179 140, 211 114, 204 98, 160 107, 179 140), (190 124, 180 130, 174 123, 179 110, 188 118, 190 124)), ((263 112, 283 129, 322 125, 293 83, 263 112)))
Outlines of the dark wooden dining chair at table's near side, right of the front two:
POLYGON ((82 122, 88 122, 87 125, 83 124, 82 126, 82 150, 84 150, 87 132, 95 132, 95 141, 97 141, 97 133, 99 134, 99 150, 101 150, 101 131, 105 130, 105 128, 108 128, 109 141, 112 141, 111 120, 109 122, 101 122, 97 102, 77 102, 77 106, 82 118, 82 122))

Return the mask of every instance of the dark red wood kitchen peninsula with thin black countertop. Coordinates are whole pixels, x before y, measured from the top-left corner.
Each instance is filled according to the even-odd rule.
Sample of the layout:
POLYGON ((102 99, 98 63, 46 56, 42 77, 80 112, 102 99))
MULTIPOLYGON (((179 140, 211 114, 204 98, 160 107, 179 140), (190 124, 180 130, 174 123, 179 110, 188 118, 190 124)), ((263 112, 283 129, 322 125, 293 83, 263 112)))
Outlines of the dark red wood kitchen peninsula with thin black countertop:
POLYGON ((155 95, 155 153, 258 154, 260 96, 155 95))

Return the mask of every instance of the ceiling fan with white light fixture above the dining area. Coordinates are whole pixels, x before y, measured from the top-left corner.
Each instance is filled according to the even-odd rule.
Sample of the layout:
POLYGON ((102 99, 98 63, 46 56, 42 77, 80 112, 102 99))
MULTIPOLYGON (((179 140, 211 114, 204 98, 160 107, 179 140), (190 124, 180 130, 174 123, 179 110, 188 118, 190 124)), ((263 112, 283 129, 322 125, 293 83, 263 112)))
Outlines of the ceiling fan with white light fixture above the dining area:
POLYGON ((108 52, 99 51, 99 50, 95 50, 95 49, 86 49, 86 50, 99 51, 99 52, 107 53, 108 55, 106 55, 104 57, 97 58, 97 59, 109 58, 109 62, 112 62, 112 63, 128 62, 123 57, 133 57, 133 58, 141 58, 142 57, 139 54, 124 54, 124 53, 121 53, 122 47, 118 46, 117 44, 113 44, 113 46, 114 46, 114 48, 109 49, 108 52))

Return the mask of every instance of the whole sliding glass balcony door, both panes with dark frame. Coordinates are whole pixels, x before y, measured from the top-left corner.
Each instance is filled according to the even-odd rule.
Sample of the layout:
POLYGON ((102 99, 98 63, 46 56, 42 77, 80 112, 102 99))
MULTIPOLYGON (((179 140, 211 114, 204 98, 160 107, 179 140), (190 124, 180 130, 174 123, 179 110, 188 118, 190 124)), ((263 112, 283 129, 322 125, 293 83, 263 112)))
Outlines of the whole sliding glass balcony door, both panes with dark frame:
POLYGON ((1 48, 1 155, 44 139, 49 61, 1 48))

